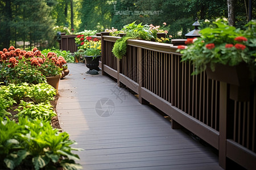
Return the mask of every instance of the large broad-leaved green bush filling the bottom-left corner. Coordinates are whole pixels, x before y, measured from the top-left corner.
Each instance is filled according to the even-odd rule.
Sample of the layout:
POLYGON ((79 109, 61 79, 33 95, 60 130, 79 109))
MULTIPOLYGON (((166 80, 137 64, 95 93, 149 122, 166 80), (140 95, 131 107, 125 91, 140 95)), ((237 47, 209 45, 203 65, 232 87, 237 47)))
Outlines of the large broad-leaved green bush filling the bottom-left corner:
POLYGON ((81 169, 75 160, 79 156, 72 153, 66 132, 52 129, 49 122, 29 118, 19 118, 18 125, 9 118, 0 117, 0 165, 1 168, 19 169, 81 169))

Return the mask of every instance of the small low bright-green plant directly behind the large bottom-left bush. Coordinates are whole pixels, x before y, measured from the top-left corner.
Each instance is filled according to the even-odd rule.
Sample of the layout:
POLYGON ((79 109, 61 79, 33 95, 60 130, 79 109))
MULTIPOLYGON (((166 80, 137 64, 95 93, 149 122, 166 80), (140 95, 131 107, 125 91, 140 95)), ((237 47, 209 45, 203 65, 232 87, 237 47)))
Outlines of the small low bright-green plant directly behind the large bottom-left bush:
POLYGON ((21 100, 18 109, 15 109, 19 113, 15 117, 29 117, 32 119, 39 118, 40 120, 50 121, 53 116, 57 114, 53 111, 51 104, 39 103, 34 104, 32 102, 27 103, 21 100))

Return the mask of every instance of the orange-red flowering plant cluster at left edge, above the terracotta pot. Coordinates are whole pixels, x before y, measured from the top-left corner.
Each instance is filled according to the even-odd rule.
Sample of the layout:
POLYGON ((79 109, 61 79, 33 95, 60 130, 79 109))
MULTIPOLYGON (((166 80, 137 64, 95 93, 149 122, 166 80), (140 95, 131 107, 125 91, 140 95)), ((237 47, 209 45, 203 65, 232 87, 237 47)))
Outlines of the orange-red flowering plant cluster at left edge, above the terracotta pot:
POLYGON ((67 63, 64 57, 53 52, 42 54, 37 48, 26 51, 10 46, 0 51, 0 56, 0 82, 6 84, 45 83, 46 76, 60 75, 61 67, 67 63))

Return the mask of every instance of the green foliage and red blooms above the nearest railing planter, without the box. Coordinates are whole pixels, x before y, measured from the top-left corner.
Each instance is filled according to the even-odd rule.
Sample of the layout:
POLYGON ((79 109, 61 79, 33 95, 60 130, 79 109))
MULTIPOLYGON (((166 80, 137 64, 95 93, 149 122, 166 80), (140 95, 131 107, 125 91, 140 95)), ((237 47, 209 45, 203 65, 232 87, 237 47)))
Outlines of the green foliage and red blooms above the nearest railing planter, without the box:
POLYGON ((256 22, 249 23, 245 31, 229 26, 228 21, 217 19, 209 27, 200 31, 201 37, 187 39, 184 45, 178 46, 183 54, 182 61, 192 61, 195 66, 193 74, 204 71, 207 65, 212 71, 216 63, 235 66, 241 62, 249 65, 254 77, 256 66, 256 22))

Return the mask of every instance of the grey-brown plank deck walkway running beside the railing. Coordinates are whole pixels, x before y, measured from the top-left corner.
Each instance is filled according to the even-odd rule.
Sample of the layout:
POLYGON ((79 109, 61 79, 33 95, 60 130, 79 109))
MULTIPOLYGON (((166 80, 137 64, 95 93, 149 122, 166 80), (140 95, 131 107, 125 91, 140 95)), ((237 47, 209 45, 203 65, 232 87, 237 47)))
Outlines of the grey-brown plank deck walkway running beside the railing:
POLYGON ((69 63, 60 80, 60 126, 84 148, 84 169, 222 169, 218 156, 108 76, 69 63))

